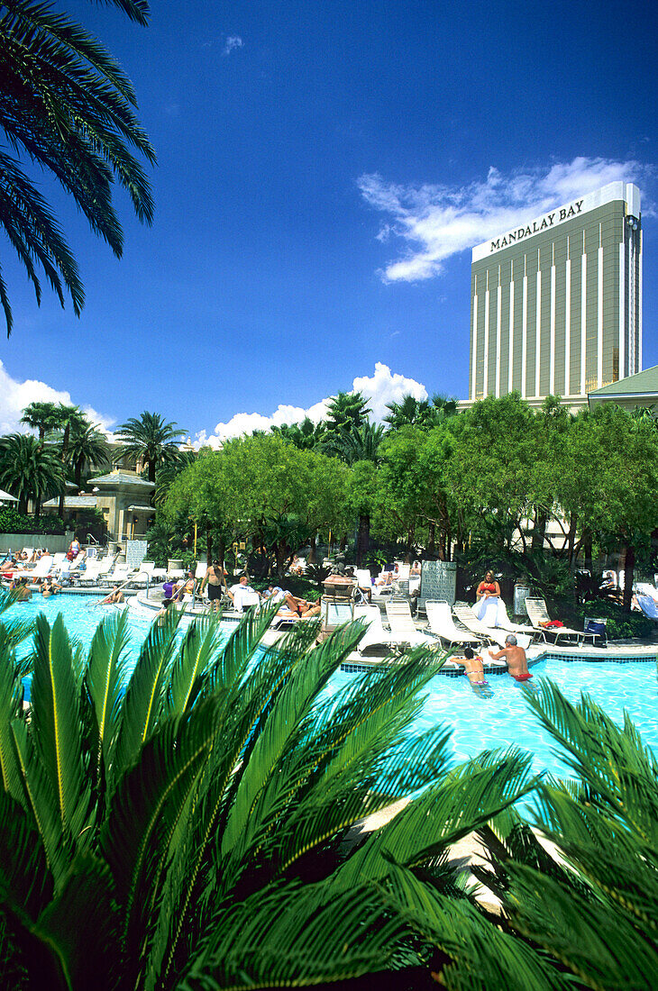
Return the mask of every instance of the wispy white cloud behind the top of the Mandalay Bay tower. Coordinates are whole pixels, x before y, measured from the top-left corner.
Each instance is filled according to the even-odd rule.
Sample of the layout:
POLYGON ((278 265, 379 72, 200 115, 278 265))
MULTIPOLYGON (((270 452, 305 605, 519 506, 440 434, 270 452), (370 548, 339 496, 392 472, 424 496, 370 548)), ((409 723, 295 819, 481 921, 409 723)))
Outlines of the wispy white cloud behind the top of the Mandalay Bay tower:
MULTIPOLYGON (((406 242, 402 257, 385 266, 384 281, 411 282, 439 275, 452 255, 607 182, 641 184, 654 174, 653 166, 638 162, 580 157, 508 175, 490 168, 485 180, 465 186, 399 185, 377 173, 362 175, 358 184, 367 203, 385 215, 379 240, 406 242)), ((642 212, 649 212, 646 202, 642 212)))

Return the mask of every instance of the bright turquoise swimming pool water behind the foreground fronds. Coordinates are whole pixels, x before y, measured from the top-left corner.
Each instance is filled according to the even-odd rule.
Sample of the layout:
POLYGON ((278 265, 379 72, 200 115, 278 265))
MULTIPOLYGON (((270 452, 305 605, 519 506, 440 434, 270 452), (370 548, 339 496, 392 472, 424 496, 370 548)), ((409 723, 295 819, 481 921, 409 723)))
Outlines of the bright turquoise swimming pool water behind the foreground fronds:
MULTIPOLYGON (((108 612, 108 606, 98 606, 97 600, 77 596, 56 596, 33 599, 30 603, 13 606, 16 615, 36 615, 42 610, 52 622, 61 612, 69 633, 89 644, 96 626, 108 612)), ((130 627, 135 649, 148 629, 148 620, 131 616, 130 627)), ((548 658, 532 668, 534 681, 550 677, 564 695, 578 701, 581 691, 588 692, 612 718, 621 721, 625 709, 644 740, 658 754, 658 676, 652 662, 591 664, 583 661, 565 662, 548 658)), ((345 685, 355 674, 340 671, 333 679, 336 688, 345 685)), ((475 696, 465 677, 447 678, 437 675, 430 684, 422 712, 417 717, 419 730, 437 722, 447 722, 453 728, 452 748, 455 759, 465 760, 485 748, 516 744, 533 755, 536 771, 550 770, 564 775, 566 768, 553 753, 553 743, 524 702, 525 690, 507 675, 490 677, 492 699, 475 696)))

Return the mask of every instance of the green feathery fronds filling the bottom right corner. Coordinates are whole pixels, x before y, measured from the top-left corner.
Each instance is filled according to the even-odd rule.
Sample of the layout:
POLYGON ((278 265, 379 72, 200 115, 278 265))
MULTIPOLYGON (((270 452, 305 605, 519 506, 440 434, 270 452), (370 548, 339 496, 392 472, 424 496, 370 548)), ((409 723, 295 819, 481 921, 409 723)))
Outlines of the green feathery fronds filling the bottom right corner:
POLYGON ((627 714, 618 725, 585 694, 572 705, 546 681, 528 704, 576 780, 546 779, 529 824, 514 814, 484 830, 478 876, 500 898, 495 918, 555 960, 560 987, 653 988, 658 761, 627 714))

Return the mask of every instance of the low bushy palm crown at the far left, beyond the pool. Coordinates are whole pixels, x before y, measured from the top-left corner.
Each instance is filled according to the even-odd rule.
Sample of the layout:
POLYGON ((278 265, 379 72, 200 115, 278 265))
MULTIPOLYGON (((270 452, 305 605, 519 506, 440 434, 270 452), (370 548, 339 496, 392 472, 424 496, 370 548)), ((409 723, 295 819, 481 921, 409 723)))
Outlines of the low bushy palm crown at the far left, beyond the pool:
POLYGON ((44 497, 63 491, 61 462, 31 434, 0 437, 0 487, 18 498, 19 512, 26 513, 34 498, 39 517, 44 497))

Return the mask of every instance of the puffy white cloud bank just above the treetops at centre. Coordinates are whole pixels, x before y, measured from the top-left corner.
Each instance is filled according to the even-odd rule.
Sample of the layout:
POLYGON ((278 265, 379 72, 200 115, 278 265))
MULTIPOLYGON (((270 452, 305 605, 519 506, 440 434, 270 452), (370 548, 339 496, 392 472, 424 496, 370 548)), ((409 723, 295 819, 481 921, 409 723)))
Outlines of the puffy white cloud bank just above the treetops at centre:
MULTIPOLYGON (((387 365, 377 362, 373 376, 357 378, 352 383, 351 391, 361 391, 368 399, 372 409, 372 419, 381 422, 387 413, 386 404, 399 402, 404 394, 410 392, 416 399, 426 399, 427 390, 424 385, 414 379, 406 379, 398 374, 391 374, 387 365)), ((201 430, 196 434, 194 447, 221 447, 225 440, 250 434, 253 430, 270 430, 281 423, 298 423, 305 416, 318 423, 326 416, 327 405, 331 399, 321 399, 308 409, 301 406, 279 405, 270 416, 264 413, 236 413, 227 423, 218 423, 211 434, 201 430)))

